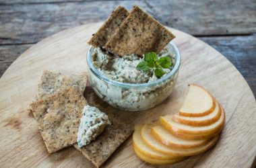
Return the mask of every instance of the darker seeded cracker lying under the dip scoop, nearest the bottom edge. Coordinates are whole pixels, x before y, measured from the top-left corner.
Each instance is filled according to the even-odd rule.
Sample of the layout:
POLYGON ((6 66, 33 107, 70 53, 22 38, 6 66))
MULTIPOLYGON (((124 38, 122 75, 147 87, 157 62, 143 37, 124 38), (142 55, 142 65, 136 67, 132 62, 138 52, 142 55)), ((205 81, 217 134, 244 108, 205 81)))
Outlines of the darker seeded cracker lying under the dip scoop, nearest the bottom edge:
POLYGON ((131 127, 121 122, 115 114, 111 112, 106 114, 111 125, 106 126, 96 140, 82 148, 79 148, 77 144, 74 145, 96 167, 100 167, 133 132, 131 127))

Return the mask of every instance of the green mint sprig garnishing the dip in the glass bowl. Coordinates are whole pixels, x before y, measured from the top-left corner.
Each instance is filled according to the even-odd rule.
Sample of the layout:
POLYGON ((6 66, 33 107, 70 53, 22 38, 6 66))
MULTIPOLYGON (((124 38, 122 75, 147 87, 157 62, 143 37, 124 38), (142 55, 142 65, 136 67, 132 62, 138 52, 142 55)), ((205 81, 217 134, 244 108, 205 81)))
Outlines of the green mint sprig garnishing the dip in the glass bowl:
POLYGON ((154 74, 159 79, 164 75, 164 69, 168 69, 172 65, 170 56, 163 56, 158 60, 158 54, 156 52, 148 52, 144 56, 144 60, 139 62, 136 69, 139 71, 148 71, 154 69, 154 74))

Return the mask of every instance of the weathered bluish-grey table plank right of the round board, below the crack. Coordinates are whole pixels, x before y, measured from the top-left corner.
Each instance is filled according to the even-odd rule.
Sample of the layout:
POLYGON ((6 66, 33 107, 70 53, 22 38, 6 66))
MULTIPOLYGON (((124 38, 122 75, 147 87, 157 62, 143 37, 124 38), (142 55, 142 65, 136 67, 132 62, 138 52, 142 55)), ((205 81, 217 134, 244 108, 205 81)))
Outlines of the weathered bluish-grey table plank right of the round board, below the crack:
POLYGON ((256 95, 256 34, 251 36, 210 36, 199 39, 226 56, 245 77, 256 95))

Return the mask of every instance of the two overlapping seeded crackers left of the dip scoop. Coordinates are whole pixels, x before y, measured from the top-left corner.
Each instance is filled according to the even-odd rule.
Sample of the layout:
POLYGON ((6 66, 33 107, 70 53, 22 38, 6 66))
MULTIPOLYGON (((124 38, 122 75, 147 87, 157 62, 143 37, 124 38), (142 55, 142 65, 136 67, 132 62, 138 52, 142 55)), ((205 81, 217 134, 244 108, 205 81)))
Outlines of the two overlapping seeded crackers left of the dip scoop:
POLYGON ((37 101, 30 110, 49 153, 75 144, 82 109, 87 105, 83 96, 86 75, 67 77, 44 71, 38 85, 37 101))

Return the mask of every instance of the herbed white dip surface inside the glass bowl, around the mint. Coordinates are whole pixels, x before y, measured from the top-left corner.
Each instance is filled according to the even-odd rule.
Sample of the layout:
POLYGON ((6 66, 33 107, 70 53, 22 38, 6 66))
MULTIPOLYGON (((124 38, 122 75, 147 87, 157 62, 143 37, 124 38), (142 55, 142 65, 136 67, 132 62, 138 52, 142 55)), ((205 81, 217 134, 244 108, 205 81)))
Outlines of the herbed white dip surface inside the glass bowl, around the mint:
MULTIPOLYGON (((164 48, 159 54, 158 58, 163 56, 170 56, 173 60, 173 56, 170 55, 167 48, 164 48)), ((148 83, 155 81, 158 78, 154 75, 153 69, 149 71, 139 71, 136 69, 139 62, 143 61, 143 58, 131 54, 125 56, 111 55, 108 52, 104 52, 100 48, 94 48, 92 51, 92 61, 94 67, 100 71, 103 75, 109 79, 123 83, 148 83)), ((173 67, 164 69, 167 74, 173 67)))

